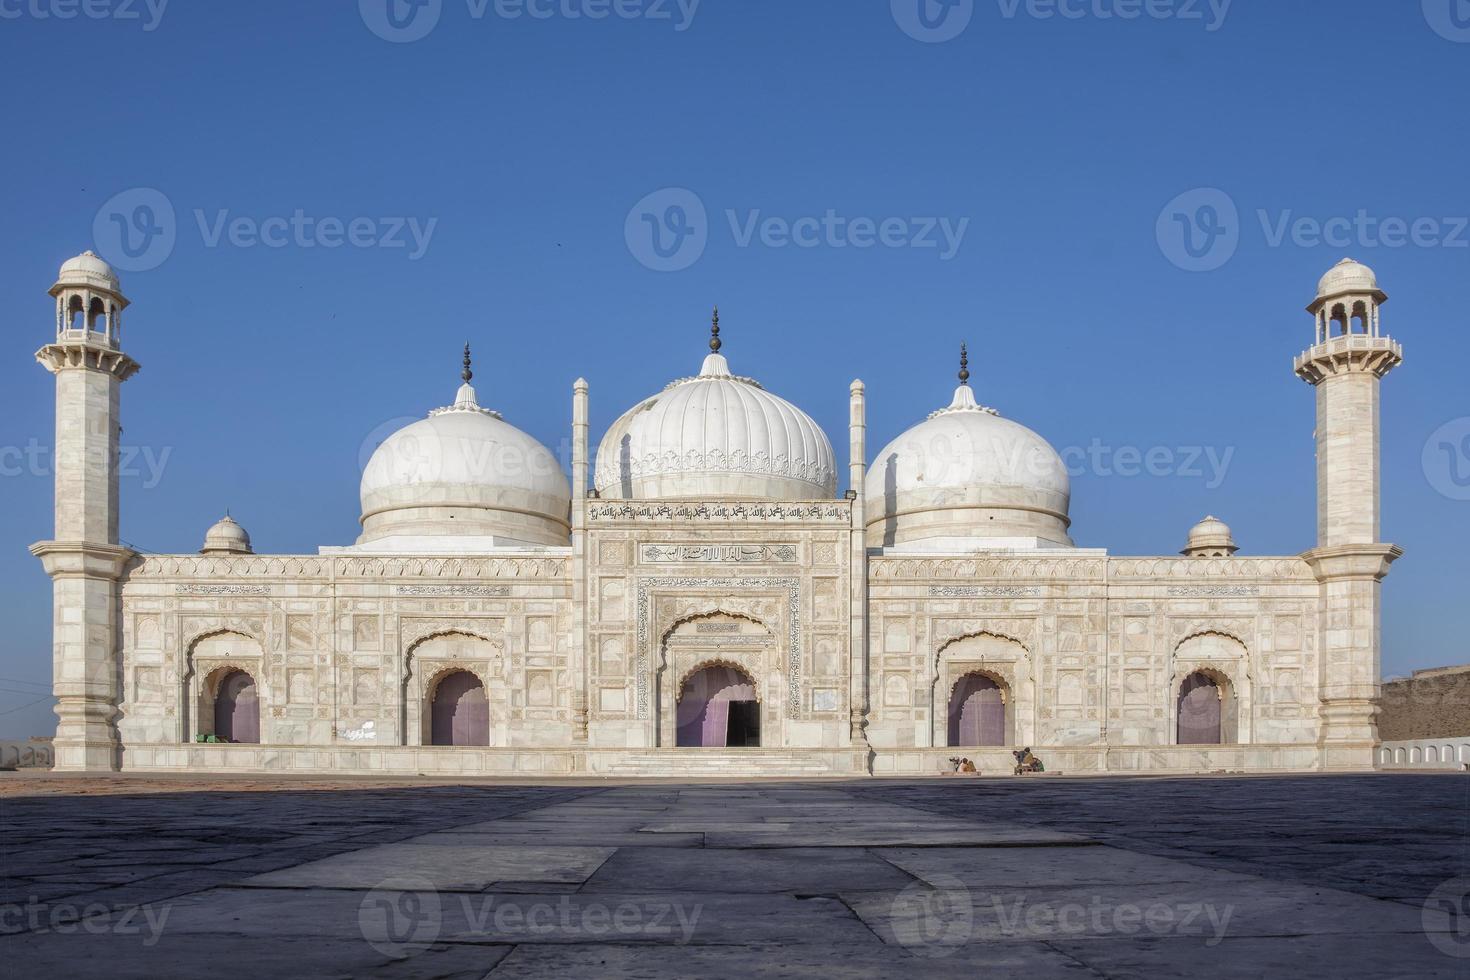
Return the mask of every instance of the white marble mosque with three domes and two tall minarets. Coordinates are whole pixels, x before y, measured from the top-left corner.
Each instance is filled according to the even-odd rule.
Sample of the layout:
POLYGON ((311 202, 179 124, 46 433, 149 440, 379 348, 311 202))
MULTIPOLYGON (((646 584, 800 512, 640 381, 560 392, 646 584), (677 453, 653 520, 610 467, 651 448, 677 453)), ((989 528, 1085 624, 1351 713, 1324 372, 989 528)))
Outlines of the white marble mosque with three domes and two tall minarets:
POLYGON ((1360 263, 1308 307, 1319 533, 1285 555, 1242 554, 1216 517, 1179 555, 1076 547, 1060 457, 963 367, 878 453, 853 382, 844 472, 801 408, 734 373, 717 314, 698 373, 623 413, 595 460, 591 385, 572 385, 570 475, 481 407, 466 351, 450 404, 376 448, 354 544, 256 554, 225 517, 198 554, 137 554, 118 539, 128 300, 91 253, 51 297, 56 527, 32 552, 54 580, 57 770, 995 773, 1026 746, 1070 773, 1374 763, 1401 554, 1379 541, 1377 400, 1402 351, 1360 263))

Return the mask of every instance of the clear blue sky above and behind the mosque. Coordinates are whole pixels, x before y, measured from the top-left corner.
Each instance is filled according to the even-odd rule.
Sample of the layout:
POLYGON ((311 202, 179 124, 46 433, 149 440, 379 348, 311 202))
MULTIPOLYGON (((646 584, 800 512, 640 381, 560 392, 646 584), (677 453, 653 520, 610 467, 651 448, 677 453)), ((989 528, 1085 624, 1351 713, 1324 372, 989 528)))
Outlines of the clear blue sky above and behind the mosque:
POLYGON ((975 0, 947 21, 917 0, 706 0, 692 19, 673 0, 537 0, 548 18, 442 0, 422 40, 391 43, 369 24, 429 24, 403 0, 397 21, 385 0, 175 1, 162 18, 156 0, 109 1, 90 0, 138 18, 0 0, 3 736, 54 721, 22 707, 50 682, 50 583, 26 545, 50 535, 51 483, 25 451, 53 433, 31 357, 46 289, 82 248, 116 251, 104 206, 123 194, 109 207, 135 217, 135 188, 175 210, 172 251, 156 238, 154 267, 123 276, 143 372, 122 391, 122 536, 160 552, 197 550, 226 507, 260 551, 350 544, 360 447, 451 400, 466 338, 481 401, 557 447, 578 375, 597 435, 697 369, 719 303, 734 369, 838 447, 853 378, 876 450, 948 401, 967 339, 982 401, 1058 448, 1101 447, 1073 457, 1078 544, 1172 554, 1214 513, 1247 552, 1295 554, 1314 538, 1313 397, 1291 361, 1317 278, 1351 254, 1377 269, 1407 348, 1383 388, 1385 536, 1407 551, 1385 673, 1470 660, 1454 479, 1470 475, 1470 4, 1236 0, 1222 21, 1202 0, 1152 7, 1201 19, 975 0), (598 9, 614 13, 567 16, 598 9), (707 215, 703 254, 673 272, 648 267, 664 260, 642 215, 667 235, 679 201, 635 210, 666 188, 707 215), (1220 197, 1198 188, 1225 192, 1213 222, 1220 197), (297 212, 304 244, 262 245, 251 225, 213 238, 220 213, 269 232, 297 212), (767 222, 829 212, 898 219, 898 247, 858 247, 876 238, 861 222, 784 245, 767 222), (1360 212, 1338 245, 1277 234, 1360 212), (1226 234, 1197 234, 1214 248, 1191 259, 1176 213, 1226 234), (357 217, 362 241, 435 225, 417 257, 407 234, 323 247, 316 220, 357 217), (925 219, 967 220, 954 254, 925 219), (1391 247, 1386 219, 1433 220, 1391 247), (1129 447, 1167 450, 1163 472, 1119 475, 1129 447), (1191 447, 1229 453, 1223 479, 1191 447))

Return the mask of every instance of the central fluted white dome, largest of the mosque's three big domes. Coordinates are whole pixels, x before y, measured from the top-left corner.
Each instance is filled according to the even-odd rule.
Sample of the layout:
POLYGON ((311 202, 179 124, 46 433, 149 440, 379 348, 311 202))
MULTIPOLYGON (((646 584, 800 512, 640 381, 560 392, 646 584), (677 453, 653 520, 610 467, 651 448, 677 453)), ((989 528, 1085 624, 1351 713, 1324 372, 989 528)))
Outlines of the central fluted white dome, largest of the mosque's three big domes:
POLYGON ((825 500, 836 492, 826 433, 804 411, 719 353, 626 411, 597 450, 601 497, 660 500, 825 500))

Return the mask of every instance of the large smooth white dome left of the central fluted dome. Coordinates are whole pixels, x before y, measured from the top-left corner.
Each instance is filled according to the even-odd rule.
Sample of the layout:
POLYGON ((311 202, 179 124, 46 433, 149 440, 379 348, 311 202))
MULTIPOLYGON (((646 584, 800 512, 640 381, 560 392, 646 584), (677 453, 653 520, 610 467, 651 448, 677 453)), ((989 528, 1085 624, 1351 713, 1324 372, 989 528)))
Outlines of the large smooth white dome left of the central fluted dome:
POLYGON ((466 381, 453 406, 394 432, 373 451, 363 470, 357 544, 566 545, 570 501, 551 451, 481 408, 466 381))

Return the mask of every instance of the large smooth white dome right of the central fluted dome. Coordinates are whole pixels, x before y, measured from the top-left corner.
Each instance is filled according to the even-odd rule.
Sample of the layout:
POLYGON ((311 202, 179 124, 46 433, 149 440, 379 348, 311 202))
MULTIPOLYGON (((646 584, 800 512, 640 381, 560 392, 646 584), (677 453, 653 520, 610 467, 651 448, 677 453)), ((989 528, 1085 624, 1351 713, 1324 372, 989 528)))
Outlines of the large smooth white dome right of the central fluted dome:
POLYGON ((1072 480, 1051 444, 976 404, 954 401, 889 442, 864 483, 869 547, 1070 548, 1072 480))

